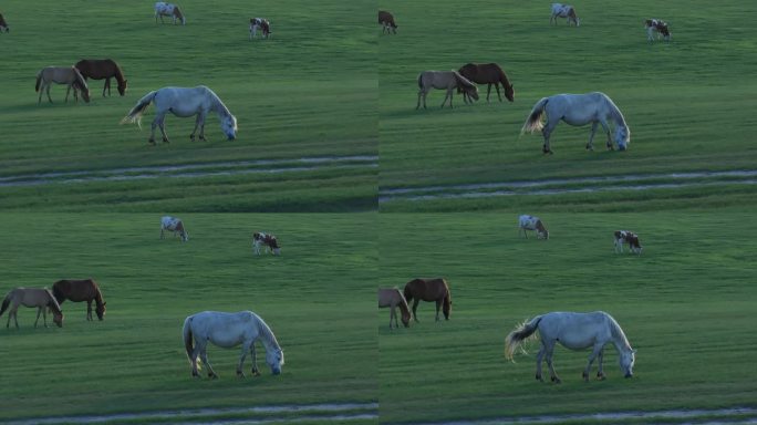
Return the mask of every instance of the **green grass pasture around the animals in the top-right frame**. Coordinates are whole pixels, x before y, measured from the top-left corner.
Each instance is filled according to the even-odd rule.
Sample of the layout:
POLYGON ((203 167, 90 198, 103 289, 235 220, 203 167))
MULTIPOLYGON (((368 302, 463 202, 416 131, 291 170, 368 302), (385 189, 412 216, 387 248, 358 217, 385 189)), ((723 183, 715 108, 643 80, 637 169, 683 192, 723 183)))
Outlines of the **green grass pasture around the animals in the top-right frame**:
MULTIPOLYGON (((549 2, 440 0, 380 3, 396 35, 378 37, 380 206, 383 211, 538 208, 608 211, 755 203, 757 35, 738 1, 573 3, 581 25, 549 24, 549 2), (670 22, 670 43, 646 41, 644 19, 670 22), (417 76, 467 62, 499 63, 515 102, 415 111, 417 76), (631 128, 628 152, 600 131, 560 123, 553 155, 519 133, 531 107, 558 93, 601 91, 631 128), (684 178, 682 173, 749 172, 684 178), (588 184, 581 179, 601 179, 588 184), (529 195, 529 196, 517 196, 529 195), (549 195, 549 196, 536 196, 549 195)), ((376 25, 378 27, 378 25, 376 25)), ((378 28, 376 32, 380 32, 378 28)), ((494 90, 492 90, 494 92, 494 90)))

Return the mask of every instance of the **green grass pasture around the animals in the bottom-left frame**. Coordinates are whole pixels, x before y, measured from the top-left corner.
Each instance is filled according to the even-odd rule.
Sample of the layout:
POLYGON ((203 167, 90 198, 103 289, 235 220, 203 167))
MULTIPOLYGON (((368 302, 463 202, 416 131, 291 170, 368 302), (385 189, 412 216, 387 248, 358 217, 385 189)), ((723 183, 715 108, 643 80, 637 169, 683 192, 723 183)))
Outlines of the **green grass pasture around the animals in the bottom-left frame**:
MULTIPOLYGON (((0 318, 0 422, 377 402, 377 335, 370 331, 375 214, 179 217, 188 242, 159 240, 155 214, 0 215, 2 297, 13 287, 92 277, 107 302, 102 322, 85 320, 85 303, 64 302, 62 329, 33 329, 35 309, 19 310, 19 331, 6 329, 7 313, 0 318), (252 231, 263 229, 279 237, 280 257, 253 256, 252 231), (180 332, 184 319, 203 310, 260 314, 286 353, 282 374, 271 375, 258 345, 262 375, 250 376, 248 356, 240 380, 239 349, 210 346, 220 379, 193 379, 180 332)), ((298 413, 214 417, 282 415, 298 413)), ((175 414, 129 422, 189 419, 175 414)))

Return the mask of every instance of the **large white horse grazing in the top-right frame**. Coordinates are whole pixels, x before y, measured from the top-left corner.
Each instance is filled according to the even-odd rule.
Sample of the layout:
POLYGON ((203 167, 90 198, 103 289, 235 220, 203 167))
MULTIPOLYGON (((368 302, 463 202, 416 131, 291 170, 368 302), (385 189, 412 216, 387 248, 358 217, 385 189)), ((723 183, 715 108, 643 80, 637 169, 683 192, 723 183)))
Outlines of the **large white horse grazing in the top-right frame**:
POLYGON ((526 120, 520 134, 526 132, 533 133, 541 131, 545 136, 543 153, 551 154, 549 148, 549 136, 554 131, 560 120, 573 126, 581 126, 591 123, 591 135, 587 149, 594 149, 594 133, 597 125, 602 124, 602 128, 608 134, 608 149, 613 149, 610 139, 609 121, 615 123, 615 143, 620 151, 625 151, 631 143, 631 129, 625 124, 625 118, 618 106, 606 94, 600 92, 587 94, 556 94, 542 97, 533 105, 531 114, 526 120), (547 125, 541 122, 541 116, 547 113, 547 125))

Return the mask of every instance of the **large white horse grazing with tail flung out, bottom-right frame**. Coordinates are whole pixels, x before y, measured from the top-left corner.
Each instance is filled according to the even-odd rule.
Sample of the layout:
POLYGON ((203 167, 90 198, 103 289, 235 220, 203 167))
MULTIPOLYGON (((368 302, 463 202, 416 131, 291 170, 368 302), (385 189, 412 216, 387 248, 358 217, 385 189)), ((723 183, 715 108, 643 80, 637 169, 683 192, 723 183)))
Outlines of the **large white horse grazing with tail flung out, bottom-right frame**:
POLYGON ((589 363, 583 370, 583 380, 587 382, 589 382, 591 364, 597 357, 599 357, 597 377, 604 380, 602 356, 604 345, 608 343, 612 343, 615 350, 618 350, 620 366, 624 376, 633 376, 636 350, 631 348, 625 333, 623 333, 615 319, 603 311, 595 311, 593 313, 552 312, 537 315, 531 321, 518 325, 507 335, 505 339, 505 356, 512 360, 512 355, 520 346, 520 343, 537 330, 541 339, 541 350, 537 354, 536 373, 536 379, 539 381, 543 382, 541 377, 541 361, 546 357, 552 382, 560 383, 560 377, 558 377, 552 365, 552 351, 558 342, 570 350, 592 348, 591 354, 589 354, 589 363))

